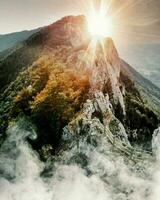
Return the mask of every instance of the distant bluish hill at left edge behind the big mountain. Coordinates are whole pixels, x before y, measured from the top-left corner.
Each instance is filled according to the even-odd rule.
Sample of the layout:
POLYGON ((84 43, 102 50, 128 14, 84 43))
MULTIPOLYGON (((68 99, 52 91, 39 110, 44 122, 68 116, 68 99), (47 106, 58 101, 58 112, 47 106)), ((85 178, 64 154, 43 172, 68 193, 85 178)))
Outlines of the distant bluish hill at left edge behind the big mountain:
POLYGON ((39 29, 34 29, 30 31, 22 31, 6 35, 0 35, 0 52, 6 51, 7 49, 12 48, 16 44, 18 44, 19 42, 26 40, 38 30, 39 29))

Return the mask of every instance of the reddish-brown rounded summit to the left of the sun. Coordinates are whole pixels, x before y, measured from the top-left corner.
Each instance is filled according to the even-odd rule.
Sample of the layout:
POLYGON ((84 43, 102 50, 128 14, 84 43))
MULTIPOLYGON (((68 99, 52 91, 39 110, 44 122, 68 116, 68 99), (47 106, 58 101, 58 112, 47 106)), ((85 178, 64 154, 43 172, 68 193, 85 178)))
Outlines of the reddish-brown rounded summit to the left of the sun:
POLYGON ((67 16, 46 26, 28 42, 54 48, 59 45, 80 46, 88 40, 84 16, 67 16))

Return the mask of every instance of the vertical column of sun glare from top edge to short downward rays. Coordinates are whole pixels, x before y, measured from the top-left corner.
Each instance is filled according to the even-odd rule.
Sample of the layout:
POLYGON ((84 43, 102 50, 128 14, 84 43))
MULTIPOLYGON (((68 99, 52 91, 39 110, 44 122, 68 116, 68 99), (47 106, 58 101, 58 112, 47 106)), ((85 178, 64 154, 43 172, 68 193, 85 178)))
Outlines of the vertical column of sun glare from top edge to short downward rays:
POLYGON ((87 38, 89 36, 90 42, 84 54, 84 59, 90 56, 93 63, 95 62, 97 50, 106 59, 106 38, 112 37, 114 33, 112 16, 109 14, 110 5, 111 0, 99 0, 98 4, 94 0, 89 0, 86 6, 87 38))

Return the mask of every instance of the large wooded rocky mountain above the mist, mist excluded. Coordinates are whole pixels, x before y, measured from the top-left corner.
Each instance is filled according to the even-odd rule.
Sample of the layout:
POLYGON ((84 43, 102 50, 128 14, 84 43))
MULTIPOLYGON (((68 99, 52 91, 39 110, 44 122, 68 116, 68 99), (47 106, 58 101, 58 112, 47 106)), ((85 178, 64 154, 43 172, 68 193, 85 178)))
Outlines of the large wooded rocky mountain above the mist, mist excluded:
POLYGON ((42 158, 48 146, 55 153, 90 132, 117 138, 122 151, 151 150, 160 90, 119 58, 112 39, 102 43, 92 44, 84 16, 68 16, 1 59, 2 139, 11 121, 27 117, 42 158))

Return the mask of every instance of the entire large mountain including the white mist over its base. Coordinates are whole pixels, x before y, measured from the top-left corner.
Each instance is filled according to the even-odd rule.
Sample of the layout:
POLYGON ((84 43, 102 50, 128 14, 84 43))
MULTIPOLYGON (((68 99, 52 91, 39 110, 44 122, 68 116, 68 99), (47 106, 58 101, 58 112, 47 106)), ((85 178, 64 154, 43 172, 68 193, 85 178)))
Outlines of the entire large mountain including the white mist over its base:
POLYGON ((160 89, 86 27, 64 17, 1 59, 2 200, 159 199, 160 89))

